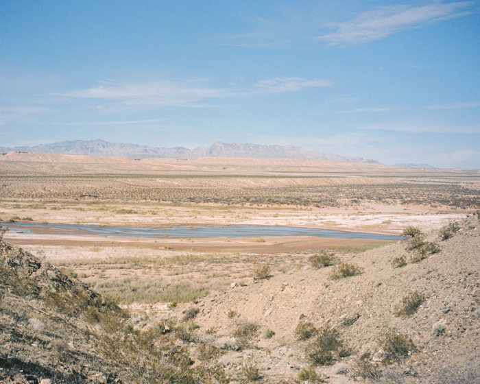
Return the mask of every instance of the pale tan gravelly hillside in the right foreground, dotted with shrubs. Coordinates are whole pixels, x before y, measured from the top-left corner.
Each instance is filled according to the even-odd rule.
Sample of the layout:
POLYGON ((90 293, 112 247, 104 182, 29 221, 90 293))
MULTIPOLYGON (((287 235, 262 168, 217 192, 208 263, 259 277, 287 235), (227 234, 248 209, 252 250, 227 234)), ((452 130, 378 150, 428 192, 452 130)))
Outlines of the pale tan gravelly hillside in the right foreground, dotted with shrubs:
POLYGON ((317 329, 326 324, 336 328, 344 340, 344 355, 350 354, 334 354, 333 365, 317 366, 317 374, 323 372, 328 383, 361 379, 359 366, 365 364, 385 371, 383 341, 390 331, 405 335, 415 346, 405 359, 390 365, 401 371, 395 383, 425 383, 444 369, 453 376, 453 372, 475 371, 480 363, 479 229, 475 215, 461 221, 450 239, 442 240, 438 231, 429 233, 424 242, 437 243, 440 252, 426 254, 418 262, 412 259, 418 259, 419 253, 407 251, 405 241, 340 255, 341 262, 363 268, 357 276, 334 280, 334 266, 298 265, 296 270, 246 286, 234 282, 230 290, 212 293, 196 304, 198 337, 228 350, 220 358, 228 372, 250 362, 272 383, 291 382, 312 363, 306 350, 311 352, 313 342, 299 341, 295 334, 298 324, 307 322, 317 329), (402 256, 407 265, 394 267, 392 261, 402 256), (411 315, 399 314, 403 298, 413 292, 424 301, 411 315), (259 331, 250 346, 241 348, 235 330, 248 322, 259 331), (273 337, 267 338, 267 330, 274 331, 273 337))

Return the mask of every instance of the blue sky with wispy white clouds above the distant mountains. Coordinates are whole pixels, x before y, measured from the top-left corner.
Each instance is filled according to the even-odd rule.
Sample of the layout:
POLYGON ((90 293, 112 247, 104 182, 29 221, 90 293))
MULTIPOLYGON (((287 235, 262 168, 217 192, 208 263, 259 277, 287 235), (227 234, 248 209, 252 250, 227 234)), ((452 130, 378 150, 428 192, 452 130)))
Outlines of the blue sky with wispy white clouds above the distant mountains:
POLYGON ((480 0, 1 1, 0 146, 94 139, 480 169, 480 0))

